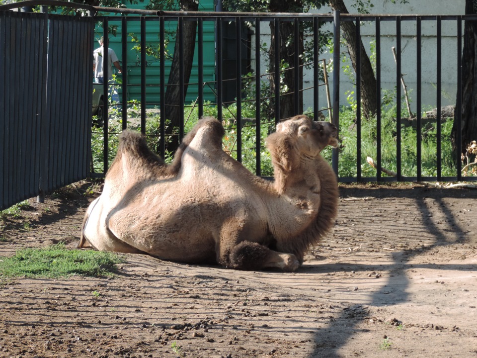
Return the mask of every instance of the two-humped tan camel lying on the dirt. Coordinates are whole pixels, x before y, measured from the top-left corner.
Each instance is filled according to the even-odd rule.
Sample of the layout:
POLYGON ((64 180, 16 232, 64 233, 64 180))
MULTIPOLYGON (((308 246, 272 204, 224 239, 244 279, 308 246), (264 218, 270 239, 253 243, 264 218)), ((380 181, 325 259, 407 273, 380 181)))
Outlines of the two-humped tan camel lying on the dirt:
POLYGON ((336 176, 320 156, 337 147, 336 127, 305 115, 277 124, 266 139, 274 181, 225 153, 223 135, 217 119, 201 119, 166 165, 125 131, 79 247, 87 240, 97 250, 189 264, 298 269, 336 217, 336 176))

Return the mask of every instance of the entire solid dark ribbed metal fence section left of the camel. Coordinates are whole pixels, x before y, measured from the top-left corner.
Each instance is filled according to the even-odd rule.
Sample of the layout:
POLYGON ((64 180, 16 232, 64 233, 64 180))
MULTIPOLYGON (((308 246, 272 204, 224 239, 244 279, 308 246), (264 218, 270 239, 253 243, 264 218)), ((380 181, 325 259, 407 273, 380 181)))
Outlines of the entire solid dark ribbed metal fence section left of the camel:
POLYGON ((0 209, 87 177, 93 29, 0 11, 0 209))

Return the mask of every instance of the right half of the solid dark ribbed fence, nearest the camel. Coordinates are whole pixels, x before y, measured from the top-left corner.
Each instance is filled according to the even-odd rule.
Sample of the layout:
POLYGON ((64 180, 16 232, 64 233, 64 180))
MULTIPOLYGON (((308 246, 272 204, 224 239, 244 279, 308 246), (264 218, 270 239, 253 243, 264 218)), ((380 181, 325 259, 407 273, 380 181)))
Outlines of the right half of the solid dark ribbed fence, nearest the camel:
POLYGON ((42 149, 44 192, 87 178, 91 151, 93 18, 51 15, 42 149))

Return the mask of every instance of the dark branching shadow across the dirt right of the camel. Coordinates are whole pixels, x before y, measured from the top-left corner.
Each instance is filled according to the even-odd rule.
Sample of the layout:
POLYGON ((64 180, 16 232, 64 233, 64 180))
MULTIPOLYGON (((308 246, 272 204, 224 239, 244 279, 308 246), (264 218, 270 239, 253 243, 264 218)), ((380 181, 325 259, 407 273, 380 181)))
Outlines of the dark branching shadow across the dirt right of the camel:
MULTIPOLYGON (((344 190, 350 196, 362 197, 368 196, 369 190, 360 191, 359 189, 344 190)), ((341 191, 343 193, 343 190, 341 191)), ((426 190, 424 192, 415 192, 413 189, 406 190, 397 190, 397 189, 381 189, 379 192, 376 192, 380 197, 406 197, 412 198, 418 207, 418 212, 416 215, 420 215, 420 220, 425 226, 429 234, 433 236, 434 242, 432 245, 421 247, 416 250, 404 250, 399 252, 393 252, 391 254, 391 262, 389 265, 385 265, 386 269, 393 271, 393 274, 390 275, 387 284, 382 285, 380 289, 375 292, 372 292, 369 295, 369 299, 362 302, 355 302, 347 309, 344 309, 338 317, 334 320, 329 321, 329 325, 325 329, 317 330, 315 333, 315 348, 310 357, 323 357, 323 358, 342 358, 342 355, 339 354, 339 350, 344 347, 356 333, 359 333, 358 324, 360 320, 348 320, 347 329, 342 329, 342 320, 349 318, 349 312, 360 311, 362 310, 362 305, 371 306, 371 307, 383 307, 387 305, 395 305, 402 302, 409 301, 409 293, 407 292, 410 282, 409 278, 406 276, 405 271, 410 268, 438 268, 442 270, 469 270, 469 265, 437 265, 437 264, 410 264, 409 261, 419 255, 426 254, 427 252, 434 250, 436 247, 444 247, 453 245, 459 242, 468 242, 472 240, 469 232, 461 226, 458 220, 455 217, 455 209, 452 210, 443 200, 443 197, 453 197, 453 198, 462 198, 465 197, 477 197, 476 192, 463 191, 463 190, 445 190, 442 192, 440 190, 426 190), (425 193, 425 195, 422 195, 425 193), (439 228, 431 220, 427 220, 429 216, 432 215, 431 209, 426 203, 426 198, 432 198, 435 205, 438 206, 439 210, 444 214, 446 220, 448 221, 448 226, 451 226, 454 229, 453 237, 457 237, 457 240, 450 240, 449 232, 446 232, 439 228)), ((339 264, 339 267, 343 267, 343 263, 339 264)), ((359 264, 352 264, 354 266, 359 266, 359 264)), ((361 269, 367 269, 365 266, 360 267, 361 269)), ((312 269, 311 272, 327 272, 336 270, 336 267, 327 267, 327 268, 316 268, 312 269)))

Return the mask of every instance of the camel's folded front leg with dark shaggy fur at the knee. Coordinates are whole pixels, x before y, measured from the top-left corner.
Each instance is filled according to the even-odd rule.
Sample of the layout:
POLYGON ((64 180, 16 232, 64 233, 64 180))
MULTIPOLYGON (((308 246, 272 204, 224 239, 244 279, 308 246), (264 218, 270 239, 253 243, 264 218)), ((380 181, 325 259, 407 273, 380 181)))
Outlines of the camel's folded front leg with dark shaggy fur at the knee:
POLYGON ((300 267, 295 255, 279 253, 249 241, 242 241, 232 248, 229 260, 232 268, 243 270, 270 268, 291 272, 300 267))

